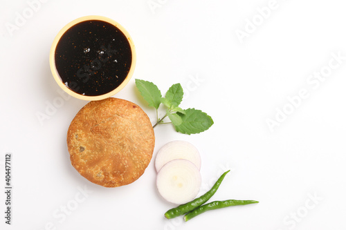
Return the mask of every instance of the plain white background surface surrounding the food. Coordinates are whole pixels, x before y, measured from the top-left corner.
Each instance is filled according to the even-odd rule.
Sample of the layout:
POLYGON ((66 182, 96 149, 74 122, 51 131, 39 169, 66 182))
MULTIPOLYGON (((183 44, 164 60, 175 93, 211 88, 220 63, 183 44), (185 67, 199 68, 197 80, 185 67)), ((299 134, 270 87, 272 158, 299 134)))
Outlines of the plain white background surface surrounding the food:
POLYGON ((14 187, 10 227, 0 195, 1 229, 346 229, 343 1, 37 2, 34 12, 27 1, 1 0, 0 191, 5 153, 13 155, 14 187), (257 8, 268 5, 274 7, 264 19, 257 8), (27 19, 18 24, 23 14, 27 19), (215 122, 190 136, 157 126, 154 156, 167 142, 187 140, 201 153, 201 193, 231 169, 212 200, 259 204, 210 211, 189 222, 165 220, 174 205, 156 192, 154 158, 139 180, 112 189, 73 169, 66 132, 87 102, 64 100, 42 124, 37 113, 60 97, 48 61, 53 39, 86 15, 118 21, 136 45, 134 76, 115 97, 140 105, 154 123, 155 111, 134 79, 154 82, 163 94, 179 82, 186 93, 181 107, 201 109, 215 122), (255 28, 248 23, 253 19, 255 28), (247 37, 239 39, 240 30, 247 37), (328 75, 322 82, 310 78, 321 70, 328 75), (288 97, 300 90, 308 97, 290 106, 288 97), (291 114, 280 117, 284 109, 291 114), (272 130, 268 119, 277 122, 272 130))

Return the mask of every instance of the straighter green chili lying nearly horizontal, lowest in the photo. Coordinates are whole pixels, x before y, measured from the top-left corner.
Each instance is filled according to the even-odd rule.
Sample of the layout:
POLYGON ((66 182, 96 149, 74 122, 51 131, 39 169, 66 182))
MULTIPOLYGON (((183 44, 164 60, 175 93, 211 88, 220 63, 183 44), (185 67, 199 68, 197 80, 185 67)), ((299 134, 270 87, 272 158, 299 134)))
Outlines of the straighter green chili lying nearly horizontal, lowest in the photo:
POLYGON ((190 213, 187 213, 184 215, 184 220, 188 221, 194 218, 195 216, 204 213, 209 210, 214 209, 222 209, 230 206, 237 206, 237 205, 246 205, 246 204, 255 204, 258 203, 258 201, 255 200, 224 200, 224 201, 213 201, 208 204, 204 204, 197 209, 194 209, 190 211, 190 213))

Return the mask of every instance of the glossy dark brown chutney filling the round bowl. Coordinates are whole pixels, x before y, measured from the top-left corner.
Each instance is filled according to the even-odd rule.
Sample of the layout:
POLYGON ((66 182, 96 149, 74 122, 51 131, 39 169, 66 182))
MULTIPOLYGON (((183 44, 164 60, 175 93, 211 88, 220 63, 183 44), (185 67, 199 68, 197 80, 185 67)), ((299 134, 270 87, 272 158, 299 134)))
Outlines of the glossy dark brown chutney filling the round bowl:
POLYGON ((62 82, 75 93, 98 96, 111 92, 131 68, 127 37, 111 23, 82 21, 66 30, 55 48, 62 82))

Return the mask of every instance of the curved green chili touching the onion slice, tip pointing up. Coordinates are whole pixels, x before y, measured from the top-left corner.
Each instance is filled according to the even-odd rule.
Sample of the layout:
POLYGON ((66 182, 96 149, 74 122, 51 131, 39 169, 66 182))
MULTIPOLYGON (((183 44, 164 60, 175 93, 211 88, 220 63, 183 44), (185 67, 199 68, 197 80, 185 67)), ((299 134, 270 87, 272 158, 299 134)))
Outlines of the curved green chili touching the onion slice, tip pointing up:
POLYGON ((219 189, 219 186, 220 186, 222 180, 224 180, 225 175, 229 171, 230 170, 228 170, 224 174, 222 174, 220 176, 220 178, 217 180, 217 182, 215 182, 215 184, 212 186, 212 188, 208 192, 206 192, 204 195, 201 195, 199 198, 196 198, 196 199, 192 200, 191 202, 188 202, 186 204, 181 204, 174 209, 170 209, 170 210, 166 211, 165 217, 167 219, 176 218, 177 216, 188 213, 189 211, 192 211, 193 209, 196 209, 197 207, 200 207, 202 204, 207 202, 212 197, 212 195, 214 195, 216 193, 217 189, 219 189))

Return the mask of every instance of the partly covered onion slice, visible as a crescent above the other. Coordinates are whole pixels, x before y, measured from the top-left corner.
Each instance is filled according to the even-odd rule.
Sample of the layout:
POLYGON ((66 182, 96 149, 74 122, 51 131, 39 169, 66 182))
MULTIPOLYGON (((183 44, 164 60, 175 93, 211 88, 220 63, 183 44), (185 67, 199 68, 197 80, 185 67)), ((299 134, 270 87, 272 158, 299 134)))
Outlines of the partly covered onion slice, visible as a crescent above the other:
POLYGON ((197 148, 190 142, 175 140, 168 142, 158 151, 155 158, 156 172, 160 171, 167 162, 176 159, 189 160, 197 166, 198 170, 201 169, 201 156, 197 148))

